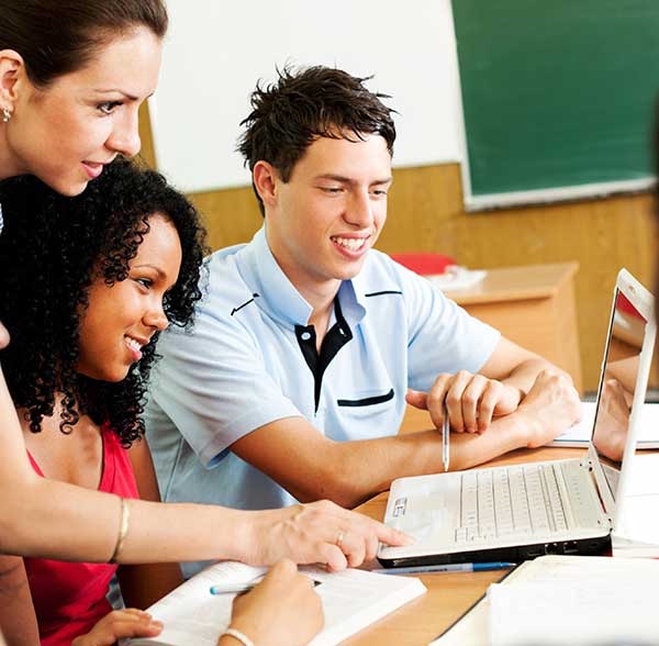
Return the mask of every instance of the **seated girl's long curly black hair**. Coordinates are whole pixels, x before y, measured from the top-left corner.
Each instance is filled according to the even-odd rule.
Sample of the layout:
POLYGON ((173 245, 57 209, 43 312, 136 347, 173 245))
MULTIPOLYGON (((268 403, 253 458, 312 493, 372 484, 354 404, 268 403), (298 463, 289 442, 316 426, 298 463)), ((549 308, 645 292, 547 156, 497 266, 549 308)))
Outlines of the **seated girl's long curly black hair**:
POLYGON ((24 176, 0 182, 4 230, 0 234, 0 321, 11 343, 0 358, 14 404, 25 410, 32 432, 63 396, 60 430, 81 414, 109 424, 129 447, 144 434, 145 394, 156 355, 156 333, 143 357, 118 383, 76 371, 79 327, 97 277, 125 280, 129 264, 159 214, 176 227, 182 260, 164 310, 170 324, 189 328, 202 296, 205 231, 192 204, 165 178, 118 159, 74 198, 24 176))

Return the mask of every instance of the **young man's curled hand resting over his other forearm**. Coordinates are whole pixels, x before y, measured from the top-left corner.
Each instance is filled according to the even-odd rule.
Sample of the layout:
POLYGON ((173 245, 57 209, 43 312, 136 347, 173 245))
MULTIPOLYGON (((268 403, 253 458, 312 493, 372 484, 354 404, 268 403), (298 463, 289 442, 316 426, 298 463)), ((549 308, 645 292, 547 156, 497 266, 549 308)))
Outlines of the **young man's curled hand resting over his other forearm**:
POLYGON ((460 370, 456 375, 439 375, 428 392, 409 390, 405 397, 409 404, 427 410, 437 428, 444 422, 445 399, 453 431, 483 433, 492 417, 516 410, 522 391, 496 379, 460 370))

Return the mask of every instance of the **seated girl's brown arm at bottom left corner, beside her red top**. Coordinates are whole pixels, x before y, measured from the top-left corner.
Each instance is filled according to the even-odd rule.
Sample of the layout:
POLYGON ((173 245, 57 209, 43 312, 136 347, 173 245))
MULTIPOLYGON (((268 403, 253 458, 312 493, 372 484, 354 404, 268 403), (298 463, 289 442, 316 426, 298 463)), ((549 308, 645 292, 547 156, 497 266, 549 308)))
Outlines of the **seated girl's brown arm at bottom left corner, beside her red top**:
POLYGON ((8 646, 38 646, 38 625, 23 559, 0 557, 0 628, 8 646))

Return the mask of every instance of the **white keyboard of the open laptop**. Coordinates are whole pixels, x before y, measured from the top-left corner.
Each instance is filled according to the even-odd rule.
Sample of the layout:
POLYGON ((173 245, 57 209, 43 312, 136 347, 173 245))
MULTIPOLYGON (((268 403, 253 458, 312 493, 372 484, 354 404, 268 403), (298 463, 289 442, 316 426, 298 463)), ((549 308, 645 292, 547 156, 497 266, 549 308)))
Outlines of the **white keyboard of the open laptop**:
POLYGON ((455 539, 472 543, 596 526, 597 512, 585 483, 576 461, 466 471, 455 539))

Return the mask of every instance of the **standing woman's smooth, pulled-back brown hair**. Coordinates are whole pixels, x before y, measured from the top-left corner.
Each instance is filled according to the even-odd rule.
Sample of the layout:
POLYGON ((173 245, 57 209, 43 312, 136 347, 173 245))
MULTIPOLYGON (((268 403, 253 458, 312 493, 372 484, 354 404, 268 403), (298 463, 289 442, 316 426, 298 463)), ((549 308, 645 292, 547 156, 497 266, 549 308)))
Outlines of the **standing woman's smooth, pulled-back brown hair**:
POLYGON ((46 87, 81 69, 109 38, 136 26, 167 32, 163 0, 0 0, 0 49, 14 49, 46 87))

